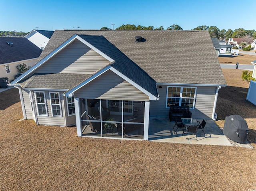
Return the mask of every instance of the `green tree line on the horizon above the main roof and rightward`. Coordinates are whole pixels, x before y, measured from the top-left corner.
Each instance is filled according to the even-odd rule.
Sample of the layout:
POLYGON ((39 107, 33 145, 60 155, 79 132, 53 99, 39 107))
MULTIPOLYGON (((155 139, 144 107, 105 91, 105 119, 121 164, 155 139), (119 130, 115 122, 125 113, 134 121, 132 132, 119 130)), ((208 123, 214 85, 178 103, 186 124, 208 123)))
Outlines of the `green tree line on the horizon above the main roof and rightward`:
MULTIPOLYGON (((101 30, 111 30, 111 28, 108 27, 102 27, 101 30)), ((116 30, 164 30, 163 26, 160 26, 159 28, 154 28, 154 26, 136 26, 136 25, 131 25, 131 24, 126 24, 122 25, 116 30)), ((183 30, 183 28, 177 24, 173 24, 170 27, 168 27, 166 30, 183 30)), ((210 33, 210 36, 212 38, 218 38, 218 39, 226 39, 228 40, 229 38, 244 38, 244 37, 251 37, 252 39, 256 39, 256 31, 253 30, 245 30, 243 28, 238 28, 235 30, 228 29, 227 31, 225 29, 220 30, 216 26, 197 26, 194 29, 191 30, 208 30, 210 33)))

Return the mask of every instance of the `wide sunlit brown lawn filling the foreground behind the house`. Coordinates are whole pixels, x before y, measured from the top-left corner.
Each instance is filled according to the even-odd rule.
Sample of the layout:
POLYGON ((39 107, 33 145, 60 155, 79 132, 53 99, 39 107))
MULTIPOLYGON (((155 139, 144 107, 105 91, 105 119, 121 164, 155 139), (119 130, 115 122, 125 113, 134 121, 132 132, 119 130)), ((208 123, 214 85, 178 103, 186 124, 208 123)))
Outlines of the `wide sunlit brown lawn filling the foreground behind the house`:
POLYGON ((3 191, 256 189, 254 149, 81 138, 74 127, 19 121, 20 102, 0 116, 3 191))

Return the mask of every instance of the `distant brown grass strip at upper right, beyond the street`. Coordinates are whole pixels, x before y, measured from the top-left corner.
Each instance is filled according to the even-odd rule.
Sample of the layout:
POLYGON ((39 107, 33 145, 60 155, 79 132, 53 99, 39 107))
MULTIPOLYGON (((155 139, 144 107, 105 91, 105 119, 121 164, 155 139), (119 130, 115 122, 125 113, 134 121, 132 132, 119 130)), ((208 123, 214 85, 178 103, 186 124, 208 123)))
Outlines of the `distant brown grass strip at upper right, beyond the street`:
POLYGON ((237 62, 239 64, 252 64, 251 62, 256 60, 256 56, 243 54, 242 52, 239 52, 239 55, 237 56, 218 57, 218 59, 221 64, 236 64, 237 62))

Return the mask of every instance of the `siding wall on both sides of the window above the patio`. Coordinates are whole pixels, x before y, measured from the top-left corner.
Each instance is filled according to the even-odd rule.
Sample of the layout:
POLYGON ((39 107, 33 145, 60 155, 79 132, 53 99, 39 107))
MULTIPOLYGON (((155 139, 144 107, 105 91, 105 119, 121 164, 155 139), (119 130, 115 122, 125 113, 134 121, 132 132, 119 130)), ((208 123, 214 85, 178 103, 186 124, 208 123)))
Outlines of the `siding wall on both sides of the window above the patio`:
MULTIPOLYGON (((158 93, 160 99, 156 101, 150 101, 150 116, 169 116, 170 109, 166 108, 167 86, 162 85, 162 87, 163 88, 159 88, 158 85, 158 93)), ((190 109, 190 111, 192 112, 192 117, 212 118, 216 87, 192 87, 196 87, 195 108, 190 109)))

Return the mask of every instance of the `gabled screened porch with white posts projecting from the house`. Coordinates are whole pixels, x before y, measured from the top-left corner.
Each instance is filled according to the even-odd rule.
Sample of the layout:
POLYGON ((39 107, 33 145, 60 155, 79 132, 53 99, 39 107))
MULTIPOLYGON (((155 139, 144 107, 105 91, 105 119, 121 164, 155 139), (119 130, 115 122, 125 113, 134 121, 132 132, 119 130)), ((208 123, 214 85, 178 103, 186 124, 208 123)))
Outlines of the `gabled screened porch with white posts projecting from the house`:
POLYGON ((157 97, 113 68, 64 95, 74 103, 78 136, 148 140, 150 100, 157 97))

